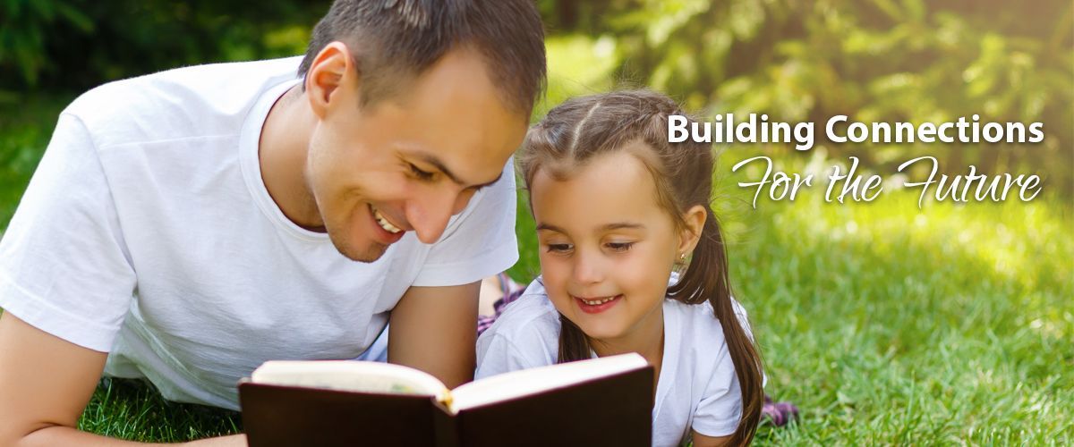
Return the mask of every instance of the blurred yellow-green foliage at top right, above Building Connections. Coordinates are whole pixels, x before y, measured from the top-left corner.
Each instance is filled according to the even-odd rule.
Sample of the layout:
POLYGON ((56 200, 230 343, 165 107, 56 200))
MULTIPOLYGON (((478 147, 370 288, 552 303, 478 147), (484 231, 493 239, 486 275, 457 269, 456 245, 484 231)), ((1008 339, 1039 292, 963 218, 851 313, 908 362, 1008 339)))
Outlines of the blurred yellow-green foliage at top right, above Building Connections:
MULTIPOLYGON (((558 3, 558 2, 556 2, 558 3)), ((1042 172, 1074 192, 1074 12, 1069 1, 636 0, 561 31, 615 42, 615 76, 693 109, 773 120, 1044 123, 1032 145, 826 145, 868 165, 939 155, 949 172, 1042 172), (968 118, 969 119, 969 118, 968 118), (1062 166, 1063 168, 1058 168, 1062 166)), ((581 6, 579 6, 581 8, 581 6)), ((549 11, 555 11, 549 9, 549 11)), ((553 19, 555 21, 555 19, 553 19)), ((595 39, 595 38, 594 38, 595 39)))

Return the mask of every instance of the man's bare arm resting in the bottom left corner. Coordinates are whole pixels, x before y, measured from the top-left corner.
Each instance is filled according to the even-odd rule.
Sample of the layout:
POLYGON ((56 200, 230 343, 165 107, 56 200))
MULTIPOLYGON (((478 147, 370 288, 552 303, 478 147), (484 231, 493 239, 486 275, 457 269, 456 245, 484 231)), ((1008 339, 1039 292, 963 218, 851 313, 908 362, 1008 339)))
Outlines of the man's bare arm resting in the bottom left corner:
MULTIPOLYGON (((106 358, 105 353, 52 336, 15 315, 0 315, 0 446, 143 445, 76 429, 106 358)), ((245 446, 246 438, 198 443, 245 446)))

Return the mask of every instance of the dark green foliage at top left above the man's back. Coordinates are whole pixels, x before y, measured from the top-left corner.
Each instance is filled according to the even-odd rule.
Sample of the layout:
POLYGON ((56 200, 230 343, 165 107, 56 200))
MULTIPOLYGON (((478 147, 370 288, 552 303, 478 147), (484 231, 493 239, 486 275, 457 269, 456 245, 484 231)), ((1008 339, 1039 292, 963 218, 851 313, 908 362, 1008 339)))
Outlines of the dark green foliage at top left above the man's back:
POLYGON ((85 89, 179 65, 293 56, 329 4, 0 1, 0 89, 85 89))

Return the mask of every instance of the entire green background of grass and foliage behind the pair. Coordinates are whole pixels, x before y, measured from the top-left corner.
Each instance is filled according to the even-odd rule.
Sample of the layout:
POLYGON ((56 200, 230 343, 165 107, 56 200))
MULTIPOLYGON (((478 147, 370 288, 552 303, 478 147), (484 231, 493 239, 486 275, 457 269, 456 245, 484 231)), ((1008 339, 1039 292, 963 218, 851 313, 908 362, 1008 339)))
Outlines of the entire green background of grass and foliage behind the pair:
MULTIPOLYGON (((813 121, 1043 122, 1040 144, 717 146, 714 207, 770 394, 803 413, 763 444, 1074 442, 1074 11, 1070 1, 540 0, 550 83, 534 119, 575 95, 650 87, 701 116, 813 121), (886 188, 870 204, 750 206, 731 173, 890 177, 914 157, 966 174, 1036 174, 1030 203, 952 204, 886 188), (844 167, 845 170, 845 167, 844 167)), ((57 114, 85 89, 179 65, 304 53, 329 1, 0 0, 0 228, 57 114)), ((924 174, 917 174, 924 176, 924 174)), ((519 281, 539 271, 520 192, 519 281)), ((187 419, 117 429, 98 396, 84 427, 144 439, 213 432, 187 419), (193 427, 175 427, 193 423, 193 427), (161 431, 161 427, 166 430, 161 431)), ((233 427, 233 426, 232 426, 233 427)), ((215 429, 214 429, 215 430, 215 429)), ((222 429, 227 431, 228 429, 222 429)))

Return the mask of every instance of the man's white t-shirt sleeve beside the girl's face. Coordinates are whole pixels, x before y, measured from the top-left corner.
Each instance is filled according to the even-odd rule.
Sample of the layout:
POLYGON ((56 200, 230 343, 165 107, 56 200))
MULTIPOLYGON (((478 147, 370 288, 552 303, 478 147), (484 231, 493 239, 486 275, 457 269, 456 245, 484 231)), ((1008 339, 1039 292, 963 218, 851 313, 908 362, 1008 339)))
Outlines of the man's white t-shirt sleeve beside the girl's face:
POLYGON ((519 259, 514 236, 513 159, 499 181, 479 191, 430 250, 412 285, 469 284, 510 268, 519 259))

